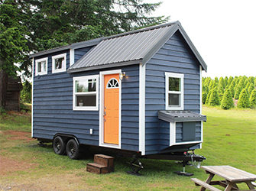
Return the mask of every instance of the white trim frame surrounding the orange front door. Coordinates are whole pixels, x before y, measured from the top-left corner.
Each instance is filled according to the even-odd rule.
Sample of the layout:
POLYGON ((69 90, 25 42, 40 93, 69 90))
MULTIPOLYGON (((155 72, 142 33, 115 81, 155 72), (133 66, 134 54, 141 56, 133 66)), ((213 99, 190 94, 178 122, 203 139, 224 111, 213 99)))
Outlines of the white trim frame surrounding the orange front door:
POLYGON ((122 73, 122 70, 109 70, 99 73, 99 146, 110 147, 121 149, 122 147, 122 80, 119 80, 119 130, 118 136, 119 144, 105 144, 104 143, 104 122, 103 122, 103 112, 104 112, 104 76, 108 74, 122 73))

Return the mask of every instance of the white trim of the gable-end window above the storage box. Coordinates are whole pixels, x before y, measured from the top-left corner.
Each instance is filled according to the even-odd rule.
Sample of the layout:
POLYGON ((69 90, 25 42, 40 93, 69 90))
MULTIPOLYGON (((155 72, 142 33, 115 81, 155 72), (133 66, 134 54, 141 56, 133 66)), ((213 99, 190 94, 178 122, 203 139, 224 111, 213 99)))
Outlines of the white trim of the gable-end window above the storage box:
POLYGON ((165 73, 165 109, 183 110, 184 109, 184 74, 183 73, 165 73), (169 91, 169 77, 180 78, 180 92, 169 91), (169 93, 180 93, 180 107, 169 106, 169 93))

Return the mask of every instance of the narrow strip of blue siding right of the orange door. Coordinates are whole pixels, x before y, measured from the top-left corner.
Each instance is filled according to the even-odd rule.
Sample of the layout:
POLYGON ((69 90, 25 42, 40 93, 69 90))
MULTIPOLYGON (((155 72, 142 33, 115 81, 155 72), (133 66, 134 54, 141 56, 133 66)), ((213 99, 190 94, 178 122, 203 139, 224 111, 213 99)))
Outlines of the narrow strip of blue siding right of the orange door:
POLYGON ((122 149, 138 151, 139 69, 138 65, 122 68, 122 149))

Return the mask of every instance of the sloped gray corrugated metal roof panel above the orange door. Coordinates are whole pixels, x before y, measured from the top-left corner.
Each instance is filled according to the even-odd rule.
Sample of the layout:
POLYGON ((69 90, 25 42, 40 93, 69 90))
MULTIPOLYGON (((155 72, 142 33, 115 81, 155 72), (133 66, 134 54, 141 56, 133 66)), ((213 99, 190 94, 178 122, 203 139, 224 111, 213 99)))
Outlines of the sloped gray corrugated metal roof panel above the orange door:
POLYGON ((69 70, 143 60, 148 51, 166 36, 174 24, 163 25, 160 28, 150 28, 150 30, 146 28, 134 33, 106 38, 73 66, 70 66, 69 70))

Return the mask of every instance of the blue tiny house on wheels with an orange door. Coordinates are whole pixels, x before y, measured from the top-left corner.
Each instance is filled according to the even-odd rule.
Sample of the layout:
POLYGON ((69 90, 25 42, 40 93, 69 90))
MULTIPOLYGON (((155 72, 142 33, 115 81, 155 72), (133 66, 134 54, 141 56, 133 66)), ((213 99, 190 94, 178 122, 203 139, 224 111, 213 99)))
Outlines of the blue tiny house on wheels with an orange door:
POLYGON ((31 54, 32 137, 57 154, 79 147, 140 156, 203 142, 201 74, 179 21, 31 54))

